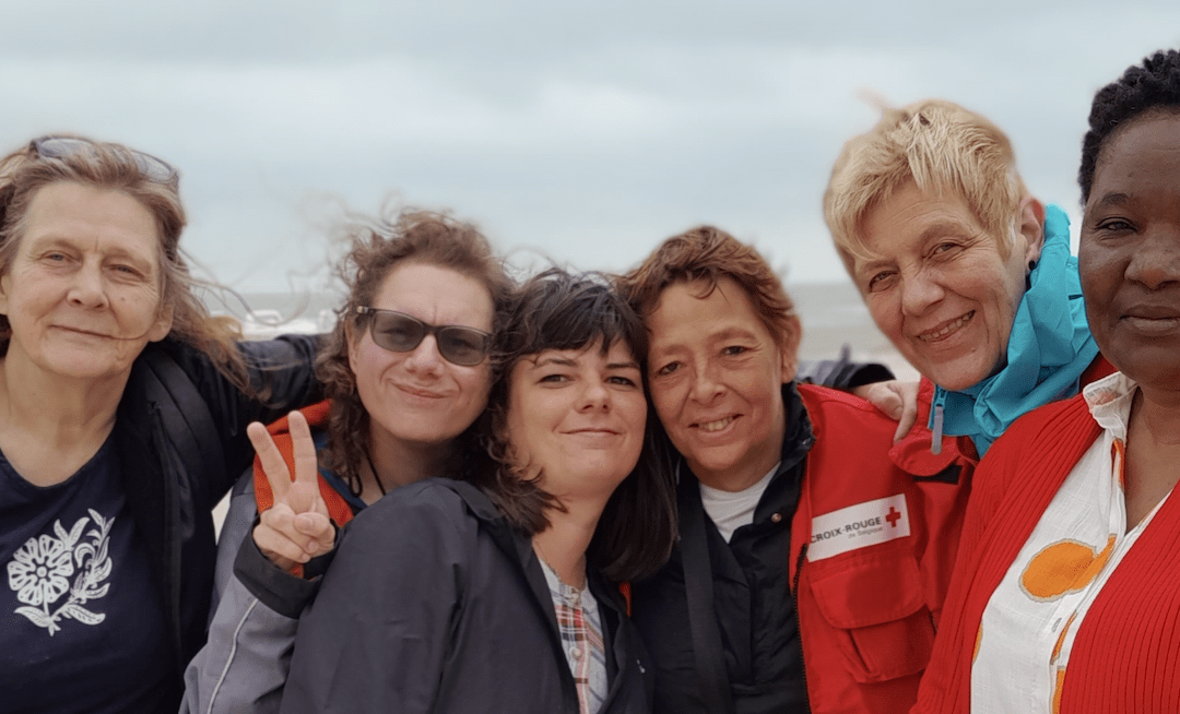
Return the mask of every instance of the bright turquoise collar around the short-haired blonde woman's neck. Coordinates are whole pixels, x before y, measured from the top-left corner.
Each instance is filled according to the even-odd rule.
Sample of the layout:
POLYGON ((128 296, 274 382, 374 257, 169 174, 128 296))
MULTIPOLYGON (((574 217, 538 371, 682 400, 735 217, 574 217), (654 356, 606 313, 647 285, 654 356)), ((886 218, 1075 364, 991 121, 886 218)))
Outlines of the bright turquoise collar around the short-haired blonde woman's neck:
POLYGON ((931 429, 939 431, 940 411, 942 431, 971 437, 981 457, 1021 415, 1076 395, 1099 353, 1086 323, 1077 258, 1069 252, 1069 217, 1057 206, 1045 209, 1044 247, 1029 280, 1008 338, 1008 364, 963 391, 935 390, 931 429))

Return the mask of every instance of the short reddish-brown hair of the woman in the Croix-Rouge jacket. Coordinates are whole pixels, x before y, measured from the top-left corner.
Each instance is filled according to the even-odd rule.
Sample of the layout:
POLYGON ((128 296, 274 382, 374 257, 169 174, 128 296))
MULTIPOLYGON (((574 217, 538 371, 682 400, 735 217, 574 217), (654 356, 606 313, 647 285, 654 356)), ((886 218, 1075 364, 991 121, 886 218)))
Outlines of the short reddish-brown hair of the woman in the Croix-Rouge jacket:
POLYGON ((658 308, 669 285, 701 280, 703 298, 721 278, 742 286, 776 344, 792 350, 799 344, 799 320, 782 280, 753 246, 721 229, 700 226, 664 240, 622 278, 622 289, 631 308, 645 317, 658 308))

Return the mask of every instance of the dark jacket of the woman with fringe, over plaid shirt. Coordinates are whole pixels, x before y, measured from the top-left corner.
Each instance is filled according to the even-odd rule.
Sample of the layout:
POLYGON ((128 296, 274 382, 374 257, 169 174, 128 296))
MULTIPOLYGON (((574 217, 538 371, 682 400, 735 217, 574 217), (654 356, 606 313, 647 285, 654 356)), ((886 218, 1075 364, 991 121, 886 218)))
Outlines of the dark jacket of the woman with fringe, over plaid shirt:
MULTIPOLYGON (((590 573, 604 714, 649 710, 647 655, 618 590, 590 573)), ((405 485, 345 529, 295 642, 282 712, 577 714, 531 540, 477 488, 405 485)))

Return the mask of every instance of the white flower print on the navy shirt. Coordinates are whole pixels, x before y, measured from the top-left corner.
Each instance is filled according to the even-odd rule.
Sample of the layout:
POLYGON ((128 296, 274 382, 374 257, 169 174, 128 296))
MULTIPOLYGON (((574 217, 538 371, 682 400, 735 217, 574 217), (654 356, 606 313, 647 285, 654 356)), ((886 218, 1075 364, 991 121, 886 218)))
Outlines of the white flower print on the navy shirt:
POLYGON ((25 603, 14 611, 48 629, 51 636, 61 629, 63 620, 98 624, 106 619, 103 613, 83 606, 103 597, 111 587, 103 581, 111 575, 107 547, 114 518, 106 520, 94 509, 88 511, 90 518, 83 516, 68 533, 61 521, 55 521, 57 537, 41 534, 28 538, 8 562, 8 587, 17 593, 17 600, 25 603), (83 540, 91 520, 94 528, 85 534, 88 540, 83 540), (67 591, 66 602, 51 611, 67 591))

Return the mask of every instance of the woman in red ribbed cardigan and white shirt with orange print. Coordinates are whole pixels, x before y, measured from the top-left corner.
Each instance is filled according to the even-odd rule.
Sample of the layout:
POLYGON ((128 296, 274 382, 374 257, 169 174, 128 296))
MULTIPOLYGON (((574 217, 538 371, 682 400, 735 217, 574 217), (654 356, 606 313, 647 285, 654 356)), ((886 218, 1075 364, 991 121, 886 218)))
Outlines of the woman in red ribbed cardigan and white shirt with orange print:
POLYGON ((1120 372, 988 452, 914 712, 1180 712, 1180 52, 1089 125, 1079 263, 1120 372))

